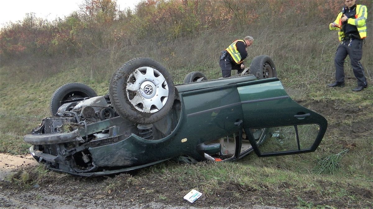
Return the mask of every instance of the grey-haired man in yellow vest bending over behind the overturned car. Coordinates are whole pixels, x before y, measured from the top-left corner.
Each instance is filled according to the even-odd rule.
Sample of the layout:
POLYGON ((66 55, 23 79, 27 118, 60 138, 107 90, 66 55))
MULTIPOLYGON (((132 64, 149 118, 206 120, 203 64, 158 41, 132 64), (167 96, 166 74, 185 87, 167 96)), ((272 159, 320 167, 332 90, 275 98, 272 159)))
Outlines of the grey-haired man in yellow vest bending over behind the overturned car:
POLYGON ((246 48, 253 44, 254 39, 246 36, 244 39, 234 41, 220 55, 219 65, 222 68, 223 78, 231 77, 231 70, 237 70, 237 73, 244 71, 242 62, 247 57, 246 48))

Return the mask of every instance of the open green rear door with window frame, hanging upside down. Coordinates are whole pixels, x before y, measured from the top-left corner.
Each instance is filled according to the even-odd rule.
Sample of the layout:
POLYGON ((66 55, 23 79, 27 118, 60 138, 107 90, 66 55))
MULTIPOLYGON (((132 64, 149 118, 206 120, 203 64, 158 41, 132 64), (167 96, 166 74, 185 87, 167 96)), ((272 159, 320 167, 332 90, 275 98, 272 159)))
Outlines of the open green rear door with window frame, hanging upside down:
POLYGON ((243 128, 259 157, 313 152, 319 146, 327 120, 292 100, 278 78, 241 83, 237 89, 243 128))

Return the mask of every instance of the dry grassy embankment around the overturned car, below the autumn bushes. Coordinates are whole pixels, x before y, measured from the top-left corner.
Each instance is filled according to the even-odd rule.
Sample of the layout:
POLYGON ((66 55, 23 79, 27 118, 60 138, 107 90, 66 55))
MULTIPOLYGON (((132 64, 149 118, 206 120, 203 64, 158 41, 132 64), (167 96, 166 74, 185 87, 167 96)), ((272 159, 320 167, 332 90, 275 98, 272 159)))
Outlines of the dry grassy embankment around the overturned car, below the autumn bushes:
MULTIPOLYGON (((301 16, 294 17, 297 18, 301 16)), ((228 199, 266 205, 372 206, 373 47, 369 44, 372 38, 366 40, 362 60, 369 87, 355 93, 351 91, 356 82, 348 61, 345 65, 346 87, 325 87, 334 81, 333 57, 338 44, 336 32, 329 32, 327 25, 313 23, 285 28, 263 24, 251 25, 244 32, 235 34, 214 30, 176 41, 150 38, 132 48, 48 61, 48 64, 44 60, 19 60, 3 65, 0 68, 0 152, 27 153, 29 145, 23 142, 22 136, 49 115, 50 96, 65 83, 82 82, 97 94, 106 94, 113 71, 134 57, 151 57, 160 61, 170 70, 176 84, 181 83, 190 71, 202 71, 209 79, 218 78, 219 52, 232 40, 249 34, 255 42, 248 49, 247 66, 254 56, 269 55, 291 97, 327 118, 329 127, 316 152, 268 158, 258 158, 252 153, 237 163, 163 163, 138 171, 131 177, 105 180, 107 187, 103 193, 110 190, 110 195, 113 195, 115 191, 124 190, 122 186, 128 186, 128 178, 132 186, 140 188, 145 187, 142 179, 154 179, 154 185, 160 181, 168 188, 173 188, 175 182, 181 185, 169 189, 169 193, 147 190, 147 194, 163 201, 172 201, 172 194, 180 193, 180 190, 194 188, 203 192, 207 200, 222 200, 222 195, 218 194, 228 192, 228 199), (345 149, 348 151, 341 158, 332 161, 338 165, 332 174, 318 174, 317 163, 321 159, 335 157, 345 149), (234 185, 234 189, 229 189, 229 185, 234 185), (241 189, 249 192, 241 196, 241 189), (253 193, 258 195, 247 196, 253 193)), ((369 34, 373 34, 372 23, 368 26, 369 34)), ((48 182, 60 174, 47 172, 43 175, 47 178, 44 181, 48 182)), ((74 180, 70 176, 64 178, 74 180)), ((41 178, 26 179, 25 182, 29 182, 41 178)))

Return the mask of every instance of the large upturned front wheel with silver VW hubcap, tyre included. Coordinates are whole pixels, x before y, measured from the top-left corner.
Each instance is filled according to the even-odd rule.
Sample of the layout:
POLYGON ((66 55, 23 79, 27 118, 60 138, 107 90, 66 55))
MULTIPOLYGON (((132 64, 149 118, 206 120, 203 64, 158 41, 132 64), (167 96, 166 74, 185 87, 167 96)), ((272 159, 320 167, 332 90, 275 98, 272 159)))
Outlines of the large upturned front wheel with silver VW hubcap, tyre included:
POLYGON ((116 112, 134 123, 150 124, 172 108, 175 87, 165 67, 150 58, 132 59, 110 80, 110 100, 116 112))

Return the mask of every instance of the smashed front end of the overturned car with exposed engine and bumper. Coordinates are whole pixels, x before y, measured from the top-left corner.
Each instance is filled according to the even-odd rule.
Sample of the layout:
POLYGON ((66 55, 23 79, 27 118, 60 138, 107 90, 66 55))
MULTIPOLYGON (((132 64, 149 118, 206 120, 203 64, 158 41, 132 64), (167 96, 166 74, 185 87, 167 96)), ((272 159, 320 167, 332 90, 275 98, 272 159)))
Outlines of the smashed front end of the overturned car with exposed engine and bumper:
POLYGON ((56 116, 44 118, 32 134, 25 135, 25 142, 32 144, 29 148, 32 156, 52 170, 97 171, 88 151, 91 144, 119 140, 116 126, 110 125, 115 113, 108 101, 100 96, 63 104, 56 116))

